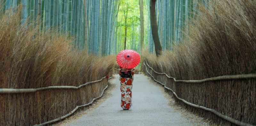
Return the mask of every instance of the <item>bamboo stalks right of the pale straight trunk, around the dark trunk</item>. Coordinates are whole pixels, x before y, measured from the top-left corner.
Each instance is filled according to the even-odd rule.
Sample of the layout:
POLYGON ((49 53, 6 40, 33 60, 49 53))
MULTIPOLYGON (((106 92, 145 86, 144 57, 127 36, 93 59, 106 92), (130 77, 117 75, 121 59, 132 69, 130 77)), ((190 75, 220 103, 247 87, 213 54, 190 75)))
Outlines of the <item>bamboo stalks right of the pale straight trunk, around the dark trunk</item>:
MULTIPOLYGON (((157 0, 156 20, 160 43, 164 50, 172 50, 188 34, 189 22, 197 17, 198 6, 208 8, 210 0, 157 0)), ((149 52, 153 53, 154 42, 150 27, 149 0, 144 1, 144 43, 149 52)))

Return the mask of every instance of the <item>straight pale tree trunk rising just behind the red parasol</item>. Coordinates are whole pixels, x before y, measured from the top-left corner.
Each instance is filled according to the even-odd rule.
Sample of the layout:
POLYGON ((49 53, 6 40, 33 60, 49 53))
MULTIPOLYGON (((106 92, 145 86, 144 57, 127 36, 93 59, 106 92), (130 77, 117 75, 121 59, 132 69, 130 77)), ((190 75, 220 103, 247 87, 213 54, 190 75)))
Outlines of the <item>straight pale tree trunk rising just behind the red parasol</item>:
MULTIPOLYGON (((140 54, 144 49, 144 14, 143 14, 143 0, 139 1, 140 4, 140 54)), ((143 59, 141 58, 140 63, 142 64, 143 59)), ((142 65, 141 65, 142 67, 142 65)))

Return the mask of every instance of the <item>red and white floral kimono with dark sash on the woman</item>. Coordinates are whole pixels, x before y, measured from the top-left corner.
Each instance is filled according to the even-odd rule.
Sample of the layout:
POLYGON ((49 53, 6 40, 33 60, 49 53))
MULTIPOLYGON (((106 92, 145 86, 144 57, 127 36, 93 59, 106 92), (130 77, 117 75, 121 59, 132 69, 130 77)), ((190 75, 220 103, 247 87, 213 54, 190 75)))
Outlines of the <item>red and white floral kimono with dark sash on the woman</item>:
POLYGON ((121 107, 128 110, 132 106, 132 82, 134 69, 119 67, 120 90, 121 90, 121 107))

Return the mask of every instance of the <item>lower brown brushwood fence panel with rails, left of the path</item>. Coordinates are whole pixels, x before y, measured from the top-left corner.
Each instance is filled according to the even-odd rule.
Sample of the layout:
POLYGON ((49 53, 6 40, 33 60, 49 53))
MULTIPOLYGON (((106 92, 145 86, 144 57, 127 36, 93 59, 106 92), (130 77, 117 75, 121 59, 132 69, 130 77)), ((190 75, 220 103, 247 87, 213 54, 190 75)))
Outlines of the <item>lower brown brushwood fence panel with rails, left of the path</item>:
POLYGON ((0 125, 46 125, 60 121, 78 108, 91 105, 100 98, 108 87, 107 83, 112 78, 112 73, 113 69, 100 80, 78 87, 0 89, 0 125))

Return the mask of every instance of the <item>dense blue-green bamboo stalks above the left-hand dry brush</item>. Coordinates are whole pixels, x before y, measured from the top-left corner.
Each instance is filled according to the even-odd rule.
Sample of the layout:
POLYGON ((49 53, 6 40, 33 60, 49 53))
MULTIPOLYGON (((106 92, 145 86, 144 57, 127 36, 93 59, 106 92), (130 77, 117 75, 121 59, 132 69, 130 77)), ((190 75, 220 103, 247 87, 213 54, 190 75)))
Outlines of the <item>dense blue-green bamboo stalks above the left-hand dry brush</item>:
POLYGON ((75 48, 99 55, 113 51, 117 0, 0 0, 0 3, 1 12, 5 13, 15 12, 22 4, 21 25, 40 24, 41 32, 51 30, 74 37, 75 48))

